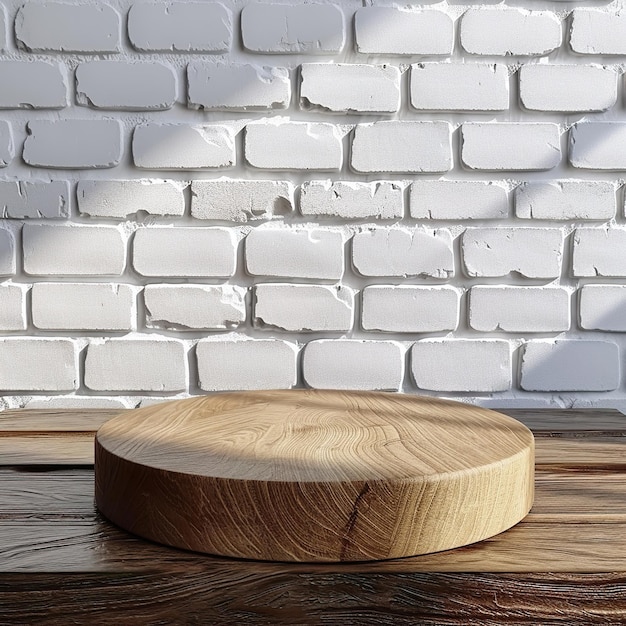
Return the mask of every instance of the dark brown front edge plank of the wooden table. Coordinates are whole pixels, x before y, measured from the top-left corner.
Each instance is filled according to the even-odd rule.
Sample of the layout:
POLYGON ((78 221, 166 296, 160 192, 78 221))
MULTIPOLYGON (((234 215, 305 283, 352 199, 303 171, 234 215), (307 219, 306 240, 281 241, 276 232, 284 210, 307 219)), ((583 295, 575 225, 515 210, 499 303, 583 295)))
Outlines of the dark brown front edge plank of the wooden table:
POLYGON ((7 624, 564 626, 626 621, 623 574, 0 575, 7 624))

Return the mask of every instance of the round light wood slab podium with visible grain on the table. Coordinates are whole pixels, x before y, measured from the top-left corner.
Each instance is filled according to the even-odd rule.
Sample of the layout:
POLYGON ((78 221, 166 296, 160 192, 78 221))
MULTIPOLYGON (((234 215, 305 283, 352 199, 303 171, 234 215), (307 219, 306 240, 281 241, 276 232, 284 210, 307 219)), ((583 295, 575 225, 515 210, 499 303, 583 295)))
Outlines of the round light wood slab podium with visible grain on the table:
POLYGON ((531 432, 457 402, 254 391, 128 411, 96 435, 96 504, 210 554, 367 561, 447 550, 530 510, 531 432))

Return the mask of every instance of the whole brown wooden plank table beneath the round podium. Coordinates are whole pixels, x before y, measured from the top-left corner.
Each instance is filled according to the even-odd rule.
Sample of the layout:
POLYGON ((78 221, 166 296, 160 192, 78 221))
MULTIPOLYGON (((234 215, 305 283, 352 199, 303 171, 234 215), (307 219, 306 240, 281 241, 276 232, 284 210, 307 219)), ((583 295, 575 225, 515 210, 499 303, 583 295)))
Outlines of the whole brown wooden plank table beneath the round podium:
POLYGON ((0 624, 624 624, 626 416, 506 411, 535 433, 535 506, 479 544, 396 561, 214 558, 137 539, 93 504, 119 411, 0 414, 0 624))

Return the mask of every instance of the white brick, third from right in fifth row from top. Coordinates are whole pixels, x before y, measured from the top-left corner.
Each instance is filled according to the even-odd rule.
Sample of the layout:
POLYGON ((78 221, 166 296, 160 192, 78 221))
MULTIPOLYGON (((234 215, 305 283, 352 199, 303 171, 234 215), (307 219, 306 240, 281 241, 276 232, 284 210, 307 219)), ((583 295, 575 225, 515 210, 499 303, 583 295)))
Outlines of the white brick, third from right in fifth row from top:
POLYGON ((362 276, 451 278, 452 237, 447 230, 368 229, 352 239, 352 264, 362 276))

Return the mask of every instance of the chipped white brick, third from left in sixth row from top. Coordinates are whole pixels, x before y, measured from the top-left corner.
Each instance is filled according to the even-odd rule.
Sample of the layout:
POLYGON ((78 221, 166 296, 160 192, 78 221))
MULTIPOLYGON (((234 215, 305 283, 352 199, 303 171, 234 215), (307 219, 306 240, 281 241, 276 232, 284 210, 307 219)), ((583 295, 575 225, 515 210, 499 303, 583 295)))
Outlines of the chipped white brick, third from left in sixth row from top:
POLYGON ((148 328, 234 328, 246 319, 246 290, 231 285, 147 285, 148 328))

